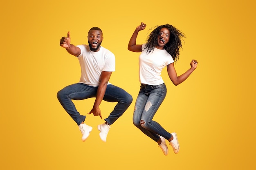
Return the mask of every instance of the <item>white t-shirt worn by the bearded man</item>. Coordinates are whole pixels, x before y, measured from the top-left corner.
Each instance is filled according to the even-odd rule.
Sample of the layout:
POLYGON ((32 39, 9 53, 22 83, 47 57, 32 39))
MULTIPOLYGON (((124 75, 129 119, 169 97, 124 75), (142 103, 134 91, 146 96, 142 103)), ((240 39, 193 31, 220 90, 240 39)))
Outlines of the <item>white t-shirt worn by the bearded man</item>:
MULTIPOLYGON (((81 66, 79 83, 97 87, 100 83, 102 71, 115 71, 115 55, 104 47, 97 52, 90 51, 89 45, 77 45, 81 54, 77 57, 81 66)), ((108 84, 110 84, 108 82, 108 84)))

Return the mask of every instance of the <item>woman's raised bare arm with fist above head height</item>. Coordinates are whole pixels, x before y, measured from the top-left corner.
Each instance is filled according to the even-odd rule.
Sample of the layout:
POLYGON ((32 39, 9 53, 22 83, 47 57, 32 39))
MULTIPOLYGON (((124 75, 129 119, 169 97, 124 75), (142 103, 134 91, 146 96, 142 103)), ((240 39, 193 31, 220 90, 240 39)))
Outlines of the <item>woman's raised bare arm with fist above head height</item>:
POLYGON ((146 28, 146 24, 141 22, 139 26, 135 29, 134 33, 132 34, 132 37, 130 38, 129 44, 128 44, 128 50, 132 52, 141 52, 141 44, 136 44, 136 39, 138 36, 139 31, 144 30, 146 28))

